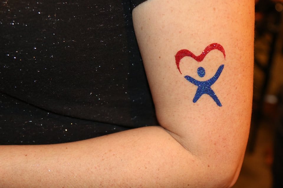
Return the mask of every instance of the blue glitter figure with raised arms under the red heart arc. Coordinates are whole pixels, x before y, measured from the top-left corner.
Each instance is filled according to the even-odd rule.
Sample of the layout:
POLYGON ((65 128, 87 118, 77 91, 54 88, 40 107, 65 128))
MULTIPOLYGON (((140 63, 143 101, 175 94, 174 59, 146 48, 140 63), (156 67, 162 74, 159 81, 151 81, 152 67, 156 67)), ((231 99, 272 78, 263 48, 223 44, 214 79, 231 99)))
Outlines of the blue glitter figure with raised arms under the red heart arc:
MULTIPOLYGON (((222 106, 222 104, 220 103, 219 99, 217 98, 216 94, 214 93, 214 91, 210 88, 212 84, 214 84, 216 82, 216 80, 219 78, 222 70, 224 68, 224 65, 221 65, 218 70, 216 71, 215 75, 210 78, 209 80, 206 81, 198 81, 195 80, 194 78, 190 77, 190 76, 185 76, 185 78, 191 82, 192 84, 195 84, 196 86, 198 86, 197 92, 195 93, 195 97, 192 100, 192 102, 197 102, 198 99, 201 97, 201 95, 203 94, 208 94, 211 98, 213 98, 213 100, 215 101, 215 103, 218 106, 222 106)), ((199 67, 198 68, 198 75, 199 77, 204 77, 205 75, 205 69, 203 67, 199 67)))

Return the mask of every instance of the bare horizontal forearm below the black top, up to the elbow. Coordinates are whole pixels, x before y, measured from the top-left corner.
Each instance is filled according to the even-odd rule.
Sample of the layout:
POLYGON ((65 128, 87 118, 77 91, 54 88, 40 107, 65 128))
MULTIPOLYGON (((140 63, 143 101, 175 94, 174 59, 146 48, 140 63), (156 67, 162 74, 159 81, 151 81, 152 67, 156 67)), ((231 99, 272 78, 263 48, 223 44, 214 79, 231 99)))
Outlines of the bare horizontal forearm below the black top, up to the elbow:
MULTIPOLYGON (((0 187, 211 187, 207 165, 161 127, 57 145, 0 146, 0 187)), ((216 181, 216 180, 215 180, 216 181)))

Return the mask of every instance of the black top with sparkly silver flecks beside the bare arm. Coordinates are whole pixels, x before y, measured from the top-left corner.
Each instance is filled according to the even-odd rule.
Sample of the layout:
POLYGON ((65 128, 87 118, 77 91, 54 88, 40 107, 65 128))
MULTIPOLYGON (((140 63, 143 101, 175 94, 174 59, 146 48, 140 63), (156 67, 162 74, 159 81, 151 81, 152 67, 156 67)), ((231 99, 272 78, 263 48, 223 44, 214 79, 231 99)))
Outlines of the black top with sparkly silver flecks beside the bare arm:
POLYGON ((0 144, 157 125, 131 17, 143 1, 2 2, 0 144))

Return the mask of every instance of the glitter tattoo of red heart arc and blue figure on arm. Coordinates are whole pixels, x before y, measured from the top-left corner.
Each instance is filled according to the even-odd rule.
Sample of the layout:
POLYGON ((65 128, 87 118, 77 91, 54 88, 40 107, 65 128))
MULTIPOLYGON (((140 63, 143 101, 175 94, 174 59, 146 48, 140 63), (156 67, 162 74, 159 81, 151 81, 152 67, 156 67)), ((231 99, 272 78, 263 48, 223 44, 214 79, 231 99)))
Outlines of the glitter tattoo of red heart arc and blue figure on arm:
MULTIPOLYGON (((201 62, 203 61, 203 59, 205 58, 205 56, 211 51, 211 50, 214 50, 214 49, 217 49, 219 51, 221 51, 224 55, 224 59, 226 57, 225 55, 225 50, 224 48, 218 44, 218 43, 213 43, 213 44, 210 44, 208 45, 204 51, 199 55, 199 56, 195 56, 195 54, 193 54, 191 51, 188 51, 188 50, 180 50, 176 53, 175 55, 175 59, 176 59, 176 65, 177 65, 177 68, 179 70, 179 72, 181 73, 181 70, 180 70, 180 61, 183 57, 186 57, 186 56, 189 56, 189 57, 192 57, 194 58, 196 61, 198 62, 201 62)), ((206 80, 206 81, 198 81, 188 75, 185 76, 185 78, 191 82, 192 84, 198 86, 198 89, 197 89, 197 92, 195 93, 195 97, 194 99, 192 100, 192 102, 197 102, 198 99, 203 95, 203 94, 208 94, 211 98, 213 98, 213 100, 215 101, 215 103, 218 105, 218 106, 222 106, 220 100, 218 99, 218 97, 216 96, 216 94, 214 93, 214 91, 211 89, 211 85, 214 84, 216 82, 216 80, 219 78, 222 70, 224 68, 224 65, 221 65, 219 66, 218 70, 216 71, 215 75, 210 78, 209 80, 206 80)), ((205 75, 205 69, 203 67, 199 67, 198 70, 198 75, 199 77, 204 77, 205 75)), ((182 74, 182 73, 181 73, 182 74)))

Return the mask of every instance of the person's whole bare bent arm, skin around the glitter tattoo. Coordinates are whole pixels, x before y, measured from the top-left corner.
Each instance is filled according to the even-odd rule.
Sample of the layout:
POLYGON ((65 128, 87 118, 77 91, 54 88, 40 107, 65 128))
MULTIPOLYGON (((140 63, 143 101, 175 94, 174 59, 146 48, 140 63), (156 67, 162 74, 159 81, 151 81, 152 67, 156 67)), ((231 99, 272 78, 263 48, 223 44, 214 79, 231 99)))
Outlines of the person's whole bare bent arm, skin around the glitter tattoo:
MULTIPOLYGON (((148 0, 133 22, 162 127, 143 127, 58 145, 0 146, 0 187, 231 187, 239 174, 251 118, 253 1, 148 0), (196 56, 219 43, 200 63, 196 56), (197 68, 211 78, 218 106, 193 103, 197 68)), ((202 80, 203 79, 203 80, 202 80)), ((138 87, 138 86, 137 86, 138 87)))

